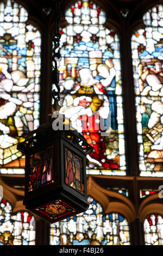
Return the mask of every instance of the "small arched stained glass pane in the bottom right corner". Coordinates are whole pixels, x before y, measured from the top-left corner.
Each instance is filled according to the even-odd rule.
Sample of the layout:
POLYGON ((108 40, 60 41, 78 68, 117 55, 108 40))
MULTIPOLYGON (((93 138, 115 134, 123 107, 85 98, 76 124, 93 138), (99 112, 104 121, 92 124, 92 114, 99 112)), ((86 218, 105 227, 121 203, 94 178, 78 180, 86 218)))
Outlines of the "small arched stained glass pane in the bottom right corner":
POLYGON ((145 245, 163 245, 163 217, 160 214, 151 214, 143 223, 145 245))

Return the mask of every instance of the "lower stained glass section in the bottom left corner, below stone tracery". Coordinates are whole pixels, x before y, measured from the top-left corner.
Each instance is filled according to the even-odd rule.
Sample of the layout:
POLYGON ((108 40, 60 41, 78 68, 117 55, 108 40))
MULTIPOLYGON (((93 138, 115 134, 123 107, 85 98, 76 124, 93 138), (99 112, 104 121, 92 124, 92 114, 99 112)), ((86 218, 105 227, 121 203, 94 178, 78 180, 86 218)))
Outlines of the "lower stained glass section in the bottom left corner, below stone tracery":
POLYGON ((4 198, 0 198, 0 245, 35 245, 34 216, 27 211, 12 214, 4 198))

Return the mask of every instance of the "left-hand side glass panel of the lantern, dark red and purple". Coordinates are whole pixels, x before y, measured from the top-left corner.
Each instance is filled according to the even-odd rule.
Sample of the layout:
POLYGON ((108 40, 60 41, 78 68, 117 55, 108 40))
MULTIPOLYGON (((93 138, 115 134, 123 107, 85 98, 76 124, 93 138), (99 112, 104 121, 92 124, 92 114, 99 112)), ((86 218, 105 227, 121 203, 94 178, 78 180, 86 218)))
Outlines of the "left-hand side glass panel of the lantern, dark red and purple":
POLYGON ((30 155, 29 191, 52 182, 53 146, 30 155))

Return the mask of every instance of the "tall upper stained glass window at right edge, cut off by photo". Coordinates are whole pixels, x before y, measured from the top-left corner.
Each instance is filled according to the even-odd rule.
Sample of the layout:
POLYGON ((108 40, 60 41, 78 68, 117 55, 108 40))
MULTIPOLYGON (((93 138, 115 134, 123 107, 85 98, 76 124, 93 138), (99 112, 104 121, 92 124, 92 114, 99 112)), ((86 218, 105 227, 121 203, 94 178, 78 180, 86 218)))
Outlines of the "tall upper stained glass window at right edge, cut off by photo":
POLYGON ((131 38, 141 176, 163 176, 162 10, 150 9, 131 38))

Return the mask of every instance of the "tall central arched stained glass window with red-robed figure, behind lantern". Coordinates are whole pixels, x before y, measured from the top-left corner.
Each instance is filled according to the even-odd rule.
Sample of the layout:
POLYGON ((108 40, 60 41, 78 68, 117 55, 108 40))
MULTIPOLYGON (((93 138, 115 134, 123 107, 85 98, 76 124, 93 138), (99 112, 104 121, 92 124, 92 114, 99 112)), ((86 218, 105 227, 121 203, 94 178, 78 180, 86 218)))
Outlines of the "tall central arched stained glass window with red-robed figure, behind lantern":
POLYGON ((61 114, 83 133, 93 152, 87 174, 126 175, 120 39, 92 1, 66 10, 60 29, 61 114))

